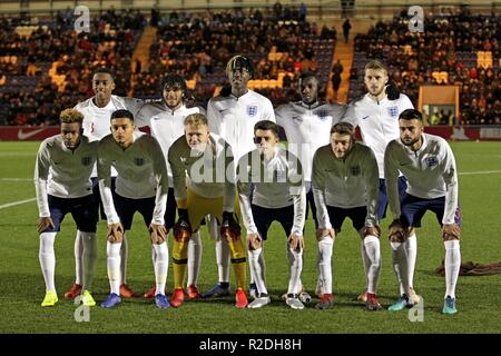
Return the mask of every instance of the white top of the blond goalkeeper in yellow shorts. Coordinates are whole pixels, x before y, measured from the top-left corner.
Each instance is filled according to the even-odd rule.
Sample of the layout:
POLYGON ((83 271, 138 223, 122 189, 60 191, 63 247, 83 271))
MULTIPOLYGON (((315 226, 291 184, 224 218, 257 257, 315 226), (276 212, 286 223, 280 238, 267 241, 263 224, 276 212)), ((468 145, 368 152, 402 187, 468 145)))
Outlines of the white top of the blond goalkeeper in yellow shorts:
POLYGON ((188 187, 204 198, 224 197, 225 211, 235 205, 235 167, 232 148, 219 136, 209 135, 209 144, 199 152, 189 147, 186 137, 179 137, 170 146, 169 164, 173 169, 174 196, 176 200, 187 198, 188 187))

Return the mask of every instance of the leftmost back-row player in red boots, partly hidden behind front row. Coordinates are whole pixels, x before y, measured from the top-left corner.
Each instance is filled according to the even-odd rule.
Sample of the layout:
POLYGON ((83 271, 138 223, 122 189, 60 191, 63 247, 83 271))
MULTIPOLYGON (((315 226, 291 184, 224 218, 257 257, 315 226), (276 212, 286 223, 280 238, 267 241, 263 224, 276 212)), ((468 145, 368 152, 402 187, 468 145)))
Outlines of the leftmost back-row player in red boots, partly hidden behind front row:
MULTIPOLYGON (((84 135, 96 139, 101 139, 110 134, 109 118, 111 113, 119 109, 128 109, 136 112, 141 107, 141 101, 137 99, 124 98, 114 96, 111 92, 115 89, 115 76, 111 70, 107 68, 99 68, 92 76, 92 90, 95 96, 82 102, 77 103, 75 109, 84 113, 84 135)), ((115 191, 115 177, 117 172, 115 168, 111 168, 111 189, 115 191)), ((98 201, 97 208, 100 210, 102 219, 105 217, 105 210, 99 195, 99 185, 97 178, 97 168, 92 170, 92 191, 95 199, 98 201)), ((84 244, 81 235, 77 231, 75 240, 75 269, 76 280, 71 288, 65 293, 65 298, 72 299, 81 291, 81 269, 82 269, 82 251, 84 244)), ((121 277, 120 295, 124 298, 131 298, 135 294, 127 285, 127 259, 128 259, 128 244, 127 238, 121 244, 121 277)))

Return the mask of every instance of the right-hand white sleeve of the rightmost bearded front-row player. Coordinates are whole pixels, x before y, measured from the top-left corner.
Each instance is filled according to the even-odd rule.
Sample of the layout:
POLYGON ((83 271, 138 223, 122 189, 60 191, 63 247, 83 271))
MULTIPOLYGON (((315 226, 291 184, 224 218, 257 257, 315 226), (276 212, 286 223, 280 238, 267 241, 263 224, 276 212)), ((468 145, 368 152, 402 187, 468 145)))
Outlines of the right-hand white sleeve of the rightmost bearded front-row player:
POLYGON ((454 224, 454 216, 458 209, 458 171, 455 168, 454 154, 451 147, 445 142, 446 156, 442 160, 443 180, 446 186, 445 209, 443 212, 442 224, 454 224))

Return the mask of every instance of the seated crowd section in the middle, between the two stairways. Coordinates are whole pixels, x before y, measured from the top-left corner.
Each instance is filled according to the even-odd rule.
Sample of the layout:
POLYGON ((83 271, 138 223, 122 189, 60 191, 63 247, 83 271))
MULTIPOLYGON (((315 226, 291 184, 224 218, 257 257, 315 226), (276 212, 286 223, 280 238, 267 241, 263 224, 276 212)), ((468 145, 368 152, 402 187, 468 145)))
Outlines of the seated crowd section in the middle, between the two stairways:
POLYGON ((194 95, 205 105, 226 82, 227 60, 242 53, 254 61, 253 79, 273 80, 279 72, 288 73, 282 88, 257 91, 268 95, 275 105, 289 100, 294 90, 291 82, 297 79, 297 73, 318 70, 314 40, 335 39, 336 32, 334 28, 318 29, 305 21, 303 6, 291 9, 277 3, 264 13, 258 9, 234 9, 155 14, 157 34, 150 47, 150 61, 147 69, 135 76, 134 96, 158 97, 158 78, 175 71, 187 80, 196 80, 194 95))

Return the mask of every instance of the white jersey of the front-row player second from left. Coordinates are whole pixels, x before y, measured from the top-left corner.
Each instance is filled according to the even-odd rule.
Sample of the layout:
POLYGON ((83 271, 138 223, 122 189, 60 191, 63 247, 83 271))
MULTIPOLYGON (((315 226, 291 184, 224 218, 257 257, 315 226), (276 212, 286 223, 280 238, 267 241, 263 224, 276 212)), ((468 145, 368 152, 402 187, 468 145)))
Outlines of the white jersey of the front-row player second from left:
POLYGON ((154 221, 164 224, 167 202, 167 167, 157 140, 143 132, 134 134, 134 144, 127 149, 118 146, 111 135, 99 141, 98 175, 101 200, 108 224, 117 222, 117 214, 110 195, 111 167, 118 172, 116 194, 130 199, 156 196, 154 221), (108 214, 110 212, 110 214, 108 214))

